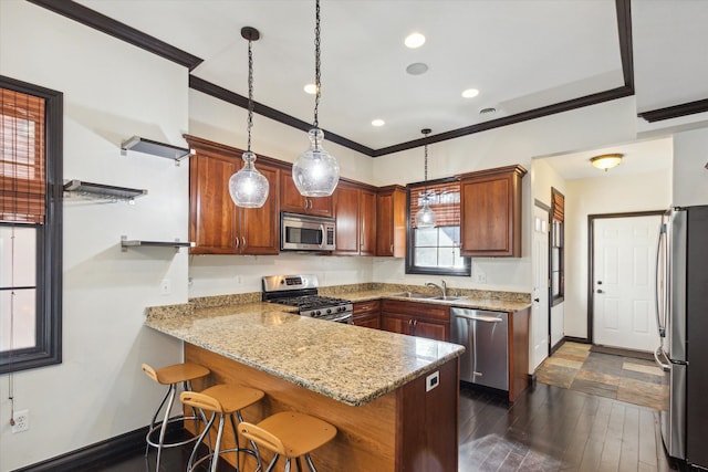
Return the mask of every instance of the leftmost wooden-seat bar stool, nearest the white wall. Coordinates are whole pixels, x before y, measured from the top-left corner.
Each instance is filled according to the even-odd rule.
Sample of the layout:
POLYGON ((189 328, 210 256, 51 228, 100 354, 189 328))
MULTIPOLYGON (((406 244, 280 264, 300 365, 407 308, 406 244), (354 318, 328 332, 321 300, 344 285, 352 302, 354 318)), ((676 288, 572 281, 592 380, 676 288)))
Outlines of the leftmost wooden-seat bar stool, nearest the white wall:
POLYGON ((155 415, 153 416, 153 420, 150 421, 150 428, 147 430, 147 436, 145 437, 145 441, 147 442, 147 444, 145 445, 145 458, 147 458, 150 447, 157 448, 157 464, 155 466, 155 470, 158 471, 159 461, 164 448, 176 448, 197 440, 197 437, 195 436, 194 438, 184 441, 165 443, 167 424, 183 420, 195 420, 195 429, 197 429, 197 421, 201 420, 205 424, 207 422, 207 418, 205 417, 204 412, 197 412, 197 410, 194 408, 191 410, 191 416, 185 417, 184 415, 178 415, 173 418, 169 417, 169 412, 171 411, 173 405, 175 402, 177 386, 181 384, 185 390, 191 390, 191 380, 208 376, 210 374, 210 370, 204 366, 200 366, 199 364, 183 363, 162 367, 159 369, 154 369, 149 365, 143 364, 143 371, 156 382, 167 386, 167 392, 165 394, 165 397, 163 397, 163 401, 159 403, 159 407, 157 407, 157 410, 155 410, 155 415), (166 401, 167 408, 165 409, 165 419, 156 424, 155 421, 157 421, 157 417, 159 416, 159 412, 165 406, 166 401), (159 438, 157 442, 155 442, 153 436, 157 430, 159 430, 159 438))

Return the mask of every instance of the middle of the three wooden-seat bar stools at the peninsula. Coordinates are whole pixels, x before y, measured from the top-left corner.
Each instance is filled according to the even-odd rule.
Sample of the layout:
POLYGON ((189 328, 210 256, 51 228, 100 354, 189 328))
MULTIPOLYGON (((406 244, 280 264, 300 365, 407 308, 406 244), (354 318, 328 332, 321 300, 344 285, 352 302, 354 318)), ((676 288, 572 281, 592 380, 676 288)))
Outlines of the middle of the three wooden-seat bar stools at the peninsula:
POLYGON ((254 388, 220 384, 215 385, 214 387, 209 387, 200 392, 184 391, 179 396, 179 399, 185 405, 188 405, 192 408, 199 408, 202 411, 211 411, 211 418, 205 427, 204 432, 199 437, 199 440, 195 444, 195 449, 191 451, 189 462, 187 463, 187 472, 194 471, 201 462, 206 461, 207 459, 211 459, 211 472, 216 472, 219 455, 226 454, 228 452, 236 452, 237 472, 241 472, 239 452, 244 452, 256 458, 256 461, 258 462, 257 471, 262 470, 261 457, 258 453, 258 447, 256 445, 256 443, 253 441, 249 441, 252 449, 241 448, 239 445, 239 437, 236 429, 236 423, 233 421, 233 415, 236 415, 239 422, 242 422, 243 418, 241 417, 241 410, 260 401, 260 399, 263 398, 263 395, 264 394, 261 390, 257 390, 254 388), (209 433, 217 413, 219 413, 219 428, 217 430, 217 440, 214 451, 211 451, 211 448, 209 448, 209 454, 195 462, 199 444, 209 433), (233 431, 233 441, 236 442, 236 447, 220 450, 221 436, 223 434, 223 423, 226 422, 225 420, 227 416, 231 421, 231 430, 233 431))

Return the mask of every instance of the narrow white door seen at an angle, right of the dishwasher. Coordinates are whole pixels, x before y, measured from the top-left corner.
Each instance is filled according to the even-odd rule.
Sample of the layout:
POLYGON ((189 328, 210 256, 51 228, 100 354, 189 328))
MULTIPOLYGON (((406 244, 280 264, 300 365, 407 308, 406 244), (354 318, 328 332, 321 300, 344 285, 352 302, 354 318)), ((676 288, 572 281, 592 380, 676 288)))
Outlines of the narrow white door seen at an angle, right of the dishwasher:
POLYGON ((533 308, 531 361, 535 368, 549 355, 549 212, 533 207, 533 308))

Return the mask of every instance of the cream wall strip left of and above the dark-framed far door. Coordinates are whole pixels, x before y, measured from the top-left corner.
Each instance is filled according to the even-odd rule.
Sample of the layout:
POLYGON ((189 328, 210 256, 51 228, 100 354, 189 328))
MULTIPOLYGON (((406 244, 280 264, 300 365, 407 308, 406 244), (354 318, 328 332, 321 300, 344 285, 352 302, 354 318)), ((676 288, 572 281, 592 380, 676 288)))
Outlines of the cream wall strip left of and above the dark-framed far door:
POLYGON ((568 180, 565 193, 565 335, 587 337, 587 216, 668 208, 669 171, 568 180))

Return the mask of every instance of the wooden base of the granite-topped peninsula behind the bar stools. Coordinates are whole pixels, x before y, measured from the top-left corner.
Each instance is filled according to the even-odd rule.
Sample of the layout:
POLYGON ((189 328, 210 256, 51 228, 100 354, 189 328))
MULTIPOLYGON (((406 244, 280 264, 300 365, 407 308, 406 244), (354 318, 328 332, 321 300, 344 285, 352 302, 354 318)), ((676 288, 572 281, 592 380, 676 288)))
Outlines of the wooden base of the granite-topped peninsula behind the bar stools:
MULTIPOLYGON (((246 421, 258 422, 279 411, 301 411, 334 424, 336 437, 312 452, 317 470, 440 472, 458 469, 458 358, 434 370, 439 375, 436 388, 426 389, 426 377, 431 371, 361 407, 333 400, 189 343, 185 343, 185 360, 211 371, 192 382, 195 390, 233 384, 264 391, 261 401, 243 409, 246 421)), ((186 422, 186 427, 194 428, 192 422, 186 422)), ((212 443, 215 440, 216 433, 212 443)), ((225 428, 222 441, 233 443, 231 428, 225 428)), ((246 443, 242 441, 241 445, 246 443)), ((263 448, 260 452, 268 464, 272 453, 263 448)), ((226 454, 223 459, 235 465, 233 454, 226 454)), ((281 459, 275 470, 283 471, 283 463, 281 459)), ((248 471, 256 469, 250 457, 241 464, 248 471)))

